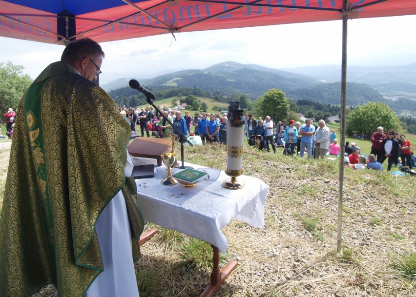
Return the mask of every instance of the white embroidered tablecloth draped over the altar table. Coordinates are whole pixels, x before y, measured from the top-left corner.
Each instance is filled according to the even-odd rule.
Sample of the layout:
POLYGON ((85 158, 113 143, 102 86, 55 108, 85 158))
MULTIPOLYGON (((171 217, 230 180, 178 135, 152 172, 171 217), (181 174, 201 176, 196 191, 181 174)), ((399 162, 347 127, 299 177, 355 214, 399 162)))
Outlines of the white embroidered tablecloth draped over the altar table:
MULTIPOLYGON (((201 168, 199 165, 189 163, 185 165, 201 168)), ((157 179, 155 175, 150 179, 153 181, 157 179, 159 187, 152 189, 152 194, 149 194, 149 191, 143 193, 138 187, 139 204, 143 216, 148 222, 204 240, 225 253, 228 241, 221 232, 221 228, 227 226, 232 218, 245 221, 253 227, 262 228, 264 206, 269 192, 269 186, 266 183, 244 175, 239 178, 244 180, 245 187, 229 190, 222 185, 226 178, 229 176, 221 171, 217 181, 182 204, 177 204, 157 198, 162 192, 160 187, 168 186, 161 185, 162 179, 157 179)), ((140 184, 145 180, 149 179, 137 179, 136 183, 140 184)), ((187 189, 179 183, 168 188, 177 188, 178 191, 187 189)))

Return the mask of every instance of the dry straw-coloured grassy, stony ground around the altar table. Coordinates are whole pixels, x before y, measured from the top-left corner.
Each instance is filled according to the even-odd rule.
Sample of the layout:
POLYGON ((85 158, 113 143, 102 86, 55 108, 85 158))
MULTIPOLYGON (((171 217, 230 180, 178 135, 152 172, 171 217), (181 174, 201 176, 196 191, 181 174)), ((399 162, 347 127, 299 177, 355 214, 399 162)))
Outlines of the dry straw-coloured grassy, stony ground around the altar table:
MULTIPOLYGON (((226 168, 224 146, 186 147, 185 156, 226 168)), ((229 241, 227 256, 239 265, 215 296, 415 296, 410 281, 391 265, 395 255, 415 252, 415 178, 347 168, 344 249, 337 254, 337 166, 285 157, 282 149, 273 155, 245 147, 244 174, 270 185, 266 226, 256 229, 232 220, 222 229, 229 241)), ((201 294, 209 271, 202 268, 187 279, 180 247, 189 240, 163 231, 142 246, 136 265, 142 297, 201 294)))

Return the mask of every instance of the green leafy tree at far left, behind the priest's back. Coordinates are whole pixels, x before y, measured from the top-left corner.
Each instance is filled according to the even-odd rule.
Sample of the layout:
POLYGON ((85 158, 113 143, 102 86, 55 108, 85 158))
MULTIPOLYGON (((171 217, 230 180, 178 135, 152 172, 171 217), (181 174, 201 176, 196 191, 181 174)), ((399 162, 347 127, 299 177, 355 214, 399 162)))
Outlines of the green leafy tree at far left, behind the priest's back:
POLYGON ((10 107, 16 110, 24 92, 32 83, 27 74, 22 74, 24 67, 12 62, 0 63, 0 112, 5 113, 10 107))

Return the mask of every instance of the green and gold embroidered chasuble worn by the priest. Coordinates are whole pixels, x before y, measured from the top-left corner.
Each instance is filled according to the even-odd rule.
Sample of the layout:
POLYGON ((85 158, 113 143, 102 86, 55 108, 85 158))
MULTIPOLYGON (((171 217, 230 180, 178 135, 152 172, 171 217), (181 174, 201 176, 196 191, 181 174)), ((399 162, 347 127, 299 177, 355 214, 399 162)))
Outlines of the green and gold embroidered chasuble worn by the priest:
POLYGON ((66 62, 49 65, 21 100, 0 217, 0 296, 51 283, 82 297, 103 271, 95 224, 123 190, 133 241, 144 222, 125 178, 130 127, 114 101, 66 62))

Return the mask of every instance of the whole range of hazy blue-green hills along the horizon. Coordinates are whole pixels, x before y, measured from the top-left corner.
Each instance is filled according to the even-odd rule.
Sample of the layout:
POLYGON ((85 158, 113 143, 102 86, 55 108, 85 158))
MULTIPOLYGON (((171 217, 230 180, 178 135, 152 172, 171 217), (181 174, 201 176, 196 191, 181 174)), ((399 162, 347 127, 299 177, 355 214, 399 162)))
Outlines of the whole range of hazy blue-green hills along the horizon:
MULTIPOLYGON (((188 87, 204 90, 209 94, 247 94, 256 100, 271 88, 278 88, 291 99, 315 100, 340 104, 340 66, 324 65, 278 70, 255 64, 222 62, 208 68, 182 70, 141 79, 146 88, 167 89, 188 87)), ((416 113, 416 64, 406 66, 364 67, 347 69, 347 105, 355 106, 369 101, 383 101, 397 113, 400 104, 393 100, 407 98, 406 111, 416 113), (384 98, 383 98, 384 96, 384 98), (389 100, 393 99, 393 100, 389 100), (410 103, 410 104, 409 104, 410 103), (415 105, 415 106, 414 106, 415 105)), ((104 84, 104 90, 127 87, 128 78, 104 84)), ((401 99, 402 100, 402 99, 401 99)), ((404 108, 404 106, 402 106, 404 108)))

